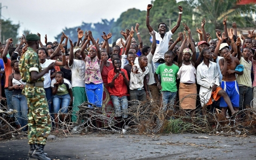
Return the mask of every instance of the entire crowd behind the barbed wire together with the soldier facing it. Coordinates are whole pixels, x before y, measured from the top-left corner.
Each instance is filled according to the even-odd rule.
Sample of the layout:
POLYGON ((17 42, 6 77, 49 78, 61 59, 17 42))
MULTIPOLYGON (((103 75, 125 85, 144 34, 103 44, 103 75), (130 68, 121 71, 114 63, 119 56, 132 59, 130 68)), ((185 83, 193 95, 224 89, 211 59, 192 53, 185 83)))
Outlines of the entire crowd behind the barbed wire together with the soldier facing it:
MULTIPOLYGON (((29 156, 46 159, 42 153, 33 151, 43 150, 51 130, 50 116, 58 128, 58 113, 65 115, 72 106, 71 121, 76 122, 78 106, 85 101, 90 103, 89 107, 101 107, 103 112, 113 107, 119 127, 124 125, 121 120, 129 116, 129 106, 138 105, 133 100, 153 99, 159 101, 162 111, 174 112, 174 102, 179 101, 181 113, 189 111, 191 116, 195 116, 196 106, 214 104, 223 116, 240 119, 243 115, 236 114, 238 110, 251 107, 251 103, 255 106, 254 30, 246 38, 238 37, 236 23, 228 31, 226 17, 223 33, 216 29, 217 40, 213 40, 204 29, 206 20, 202 19, 201 29, 196 33, 182 23, 184 32, 172 39, 181 25, 182 6, 178 6, 177 24, 167 32, 163 22, 157 31, 150 26, 151 8, 149 4, 146 15, 151 45, 143 44, 138 23, 135 31, 133 27, 121 31, 123 38, 117 39, 112 47, 108 42, 111 33, 103 32, 104 41, 100 43, 90 30, 80 28, 75 43, 62 33, 60 42, 48 42, 45 36, 45 45, 40 34, 23 35, 15 47, 12 38, 0 45, 0 98, 6 98, 8 108, 17 110, 18 128, 28 123, 29 156), (200 39, 196 43, 192 34, 197 33, 200 39), (38 127, 42 130, 40 134, 35 131, 38 127)), ((102 127, 100 122, 96 125, 102 127)))

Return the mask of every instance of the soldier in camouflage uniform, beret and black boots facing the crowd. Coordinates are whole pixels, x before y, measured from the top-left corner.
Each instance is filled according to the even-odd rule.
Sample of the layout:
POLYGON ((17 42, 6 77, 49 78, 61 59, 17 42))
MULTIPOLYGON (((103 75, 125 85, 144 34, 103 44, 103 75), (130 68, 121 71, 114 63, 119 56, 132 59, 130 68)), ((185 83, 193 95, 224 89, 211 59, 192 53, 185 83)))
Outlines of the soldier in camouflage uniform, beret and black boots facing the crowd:
POLYGON ((43 75, 54 68, 54 63, 42 71, 36 50, 39 48, 39 36, 29 34, 26 37, 28 50, 21 55, 19 68, 26 86, 22 90, 28 101, 28 143, 29 157, 50 159, 44 154, 46 139, 51 131, 51 120, 47 105, 43 75))

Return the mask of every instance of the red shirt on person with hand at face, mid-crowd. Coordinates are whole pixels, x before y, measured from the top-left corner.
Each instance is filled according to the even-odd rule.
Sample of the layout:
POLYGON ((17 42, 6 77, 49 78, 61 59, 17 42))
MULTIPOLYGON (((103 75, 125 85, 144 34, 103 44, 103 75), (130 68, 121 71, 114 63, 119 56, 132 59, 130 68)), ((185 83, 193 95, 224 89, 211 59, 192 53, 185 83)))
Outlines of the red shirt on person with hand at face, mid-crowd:
MULTIPOLYGON (((127 71, 122 68, 121 68, 121 71, 124 72, 126 78, 128 79, 127 71)), ((115 75, 116 73, 114 69, 111 69, 108 73, 108 83, 112 82, 112 79, 114 78, 115 75)), ((115 79, 114 87, 113 88, 109 87, 108 92, 110 95, 115 95, 118 97, 123 97, 124 95, 128 94, 127 86, 124 83, 124 77, 121 74, 119 74, 119 76, 115 79)))

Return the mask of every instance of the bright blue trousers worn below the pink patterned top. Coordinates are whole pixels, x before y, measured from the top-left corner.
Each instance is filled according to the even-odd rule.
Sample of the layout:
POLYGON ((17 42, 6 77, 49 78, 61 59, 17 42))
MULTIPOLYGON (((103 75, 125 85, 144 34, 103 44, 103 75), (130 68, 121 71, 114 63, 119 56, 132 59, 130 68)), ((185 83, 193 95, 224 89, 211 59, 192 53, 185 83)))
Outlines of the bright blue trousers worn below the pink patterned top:
POLYGON ((87 99, 90 103, 96 107, 102 106, 102 97, 103 97, 103 83, 101 84, 85 84, 85 92, 87 99))

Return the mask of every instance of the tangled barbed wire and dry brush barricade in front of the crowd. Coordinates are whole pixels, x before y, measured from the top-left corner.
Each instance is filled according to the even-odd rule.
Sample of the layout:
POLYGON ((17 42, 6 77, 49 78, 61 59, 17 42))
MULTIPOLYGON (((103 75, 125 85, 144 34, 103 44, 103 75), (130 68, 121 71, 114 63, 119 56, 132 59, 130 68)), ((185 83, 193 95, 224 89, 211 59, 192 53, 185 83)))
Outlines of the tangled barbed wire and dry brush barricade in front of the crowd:
MULTIPOLYGON (((186 98, 195 99, 195 95, 187 95, 183 99, 186 98)), ((200 104, 198 96, 197 103, 200 104)), ((256 110, 252 105, 239 110, 234 116, 224 116, 222 111, 214 105, 203 107, 197 105, 195 110, 183 110, 179 104, 180 102, 176 99, 174 106, 167 106, 173 107, 174 110, 163 111, 161 99, 133 100, 129 101, 127 110, 115 113, 114 107, 98 108, 89 102, 84 102, 78 106, 77 122, 71 122, 73 115, 71 108, 66 114, 60 111, 57 113, 58 122, 54 121, 52 116, 51 134, 66 136, 101 131, 119 134, 209 133, 245 136, 256 133, 256 110), (125 114, 128 115, 127 118, 117 117, 125 114), (56 127, 57 123, 58 127, 56 127)), ((15 121, 10 115, 15 112, 1 105, 0 140, 27 136, 27 131, 23 131, 27 126, 18 130, 14 128, 15 121)))

